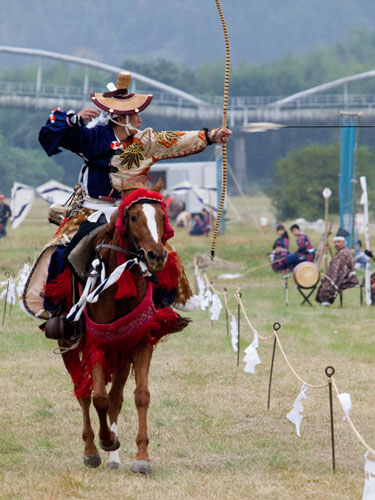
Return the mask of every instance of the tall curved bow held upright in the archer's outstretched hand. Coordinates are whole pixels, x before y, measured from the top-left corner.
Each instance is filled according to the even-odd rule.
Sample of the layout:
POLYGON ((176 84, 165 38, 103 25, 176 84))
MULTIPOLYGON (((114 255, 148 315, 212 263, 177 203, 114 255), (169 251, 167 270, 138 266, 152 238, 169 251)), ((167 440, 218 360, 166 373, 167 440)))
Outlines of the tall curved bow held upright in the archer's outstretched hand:
MULTIPOLYGON (((225 41, 225 77, 224 77, 224 102, 223 102, 223 117, 221 126, 223 128, 227 127, 227 113, 228 113, 228 93, 229 93, 229 71, 230 71, 230 50, 229 50, 229 38, 227 27, 225 24, 225 19, 223 16, 223 12, 221 10, 219 0, 215 0, 216 7, 219 12, 221 25, 224 33, 224 41, 225 41)), ((222 143, 222 164, 223 164, 223 173, 222 173, 222 188, 221 188, 221 196, 220 196, 220 204, 217 212, 217 217, 215 221, 215 227, 212 234, 212 242, 211 242, 211 260, 215 257, 215 249, 216 249, 216 239, 219 233, 219 226, 221 217, 223 214, 225 195, 227 192, 227 145, 225 142, 222 143)))

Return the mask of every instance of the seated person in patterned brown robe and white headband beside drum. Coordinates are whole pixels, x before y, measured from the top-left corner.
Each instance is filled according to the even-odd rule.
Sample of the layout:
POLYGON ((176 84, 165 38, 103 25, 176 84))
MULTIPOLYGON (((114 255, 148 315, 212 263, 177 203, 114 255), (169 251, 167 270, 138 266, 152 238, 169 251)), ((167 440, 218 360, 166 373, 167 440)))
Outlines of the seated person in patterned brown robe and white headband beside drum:
POLYGON ((346 248, 345 238, 348 236, 348 231, 340 227, 333 238, 336 254, 322 277, 322 283, 316 295, 316 301, 322 306, 330 306, 341 291, 358 285, 352 253, 349 248, 346 248))

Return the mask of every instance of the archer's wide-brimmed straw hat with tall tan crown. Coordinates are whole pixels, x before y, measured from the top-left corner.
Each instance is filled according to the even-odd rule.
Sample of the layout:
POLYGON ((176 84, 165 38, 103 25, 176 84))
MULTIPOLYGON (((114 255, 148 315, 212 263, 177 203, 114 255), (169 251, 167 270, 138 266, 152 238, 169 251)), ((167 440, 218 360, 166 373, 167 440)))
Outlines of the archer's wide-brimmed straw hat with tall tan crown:
POLYGON ((152 101, 153 95, 149 94, 129 94, 131 74, 119 73, 117 77, 117 88, 112 92, 104 94, 90 94, 92 102, 98 108, 116 115, 133 115, 140 113, 152 101))

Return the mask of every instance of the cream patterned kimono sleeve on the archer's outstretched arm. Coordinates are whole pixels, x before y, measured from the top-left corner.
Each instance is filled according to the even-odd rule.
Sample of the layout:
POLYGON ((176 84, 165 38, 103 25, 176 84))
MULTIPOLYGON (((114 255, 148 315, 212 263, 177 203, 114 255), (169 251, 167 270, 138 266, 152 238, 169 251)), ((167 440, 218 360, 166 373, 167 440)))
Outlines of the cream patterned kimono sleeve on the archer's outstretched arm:
POLYGON ((146 129, 139 137, 153 162, 200 153, 207 146, 204 130, 155 132, 146 129))

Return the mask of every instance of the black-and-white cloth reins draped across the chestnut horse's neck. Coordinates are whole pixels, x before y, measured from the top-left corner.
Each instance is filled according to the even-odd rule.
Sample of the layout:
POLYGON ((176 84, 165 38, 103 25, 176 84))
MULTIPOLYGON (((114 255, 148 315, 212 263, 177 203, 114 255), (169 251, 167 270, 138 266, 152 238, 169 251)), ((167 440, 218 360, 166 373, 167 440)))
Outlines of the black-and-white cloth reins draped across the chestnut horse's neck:
POLYGON ((139 261, 137 258, 135 258, 135 259, 127 260, 126 262, 124 262, 120 266, 116 267, 116 269, 114 271, 112 271, 112 273, 108 276, 108 278, 106 278, 104 265, 101 266, 99 259, 93 260, 91 265, 92 265, 94 271, 98 272, 98 269, 101 266, 100 283, 95 288, 95 290, 92 290, 96 284, 97 279, 98 279, 98 274, 94 273, 93 276, 90 276, 88 278, 79 301, 71 308, 66 319, 68 321, 78 321, 79 318, 81 317, 83 309, 86 307, 87 302, 89 302, 90 304, 97 302, 101 292, 103 292, 104 290, 109 288, 111 285, 116 283, 116 281, 120 278, 122 273, 124 271, 126 271, 127 269, 130 269, 135 264, 139 265, 143 276, 150 275, 146 264, 144 264, 144 262, 139 261))

